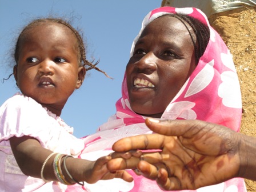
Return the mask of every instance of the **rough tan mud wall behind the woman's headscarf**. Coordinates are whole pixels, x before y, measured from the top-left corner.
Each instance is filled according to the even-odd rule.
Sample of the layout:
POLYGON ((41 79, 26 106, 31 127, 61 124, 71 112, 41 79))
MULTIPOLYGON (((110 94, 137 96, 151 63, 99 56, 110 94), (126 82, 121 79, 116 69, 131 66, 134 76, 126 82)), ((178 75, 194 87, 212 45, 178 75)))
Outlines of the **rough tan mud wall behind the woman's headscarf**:
MULTIPOLYGON (((241 133, 256 137, 256 7, 214 14, 209 21, 233 54, 242 92, 241 133)), ((256 182, 246 180, 246 186, 256 191, 256 182)))

